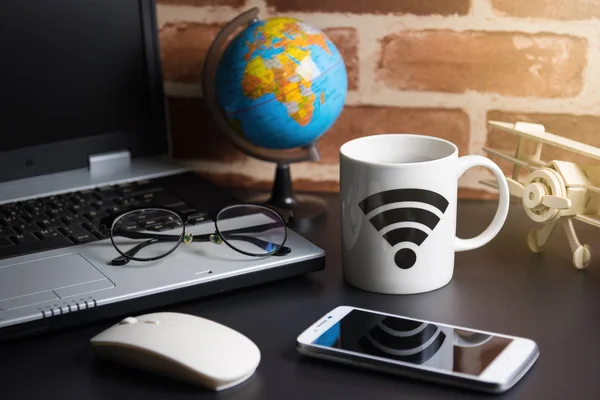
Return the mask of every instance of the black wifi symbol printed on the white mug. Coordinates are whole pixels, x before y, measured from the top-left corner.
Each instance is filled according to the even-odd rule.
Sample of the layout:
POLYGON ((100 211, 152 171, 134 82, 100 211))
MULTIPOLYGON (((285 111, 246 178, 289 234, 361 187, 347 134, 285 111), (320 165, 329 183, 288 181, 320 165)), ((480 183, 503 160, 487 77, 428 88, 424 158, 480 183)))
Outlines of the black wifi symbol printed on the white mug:
MULTIPOLYGON (((358 206, 367 215, 376 208, 401 202, 429 205, 440 210, 442 214, 448 208, 448 200, 444 196, 426 189, 387 190, 367 197, 358 203, 358 206)), ((369 221, 377 231, 400 222, 413 222, 433 230, 440 222, 440 217, 426 208, 400 206, 376 213, 369 221)), ((429 234, 422 229, 402 226, 389 230, 383 235, 383 238, 392 247, 402 242, 410 242, 420 246, 428 236, 429 234)), ((408 269, 417 262, 417 255, 412 249, 404 247, 396 252, 394 262, 398 267, 408 269)))

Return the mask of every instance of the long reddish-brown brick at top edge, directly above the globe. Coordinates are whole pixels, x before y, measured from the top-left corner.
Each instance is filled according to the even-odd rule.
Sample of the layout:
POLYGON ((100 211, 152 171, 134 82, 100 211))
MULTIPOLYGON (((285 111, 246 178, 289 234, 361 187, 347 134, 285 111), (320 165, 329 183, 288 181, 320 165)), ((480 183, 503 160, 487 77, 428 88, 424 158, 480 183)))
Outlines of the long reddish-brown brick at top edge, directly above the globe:
POLYGON ((356 14, 467 15, 471 0, 267 0, 276 11, 320 11, 356 14))

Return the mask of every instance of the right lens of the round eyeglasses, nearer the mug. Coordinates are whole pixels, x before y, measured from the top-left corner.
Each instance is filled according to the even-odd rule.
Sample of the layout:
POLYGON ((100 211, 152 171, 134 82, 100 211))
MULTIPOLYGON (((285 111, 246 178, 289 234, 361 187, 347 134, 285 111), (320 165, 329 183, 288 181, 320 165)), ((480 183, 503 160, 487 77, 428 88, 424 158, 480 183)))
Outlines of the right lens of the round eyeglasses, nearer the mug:
POLYGON ((250 255, 276 253, 285 243, 285 222, 275 211, 255 205, 227 207, 216 218, 219 234, 231 247, 250 255))

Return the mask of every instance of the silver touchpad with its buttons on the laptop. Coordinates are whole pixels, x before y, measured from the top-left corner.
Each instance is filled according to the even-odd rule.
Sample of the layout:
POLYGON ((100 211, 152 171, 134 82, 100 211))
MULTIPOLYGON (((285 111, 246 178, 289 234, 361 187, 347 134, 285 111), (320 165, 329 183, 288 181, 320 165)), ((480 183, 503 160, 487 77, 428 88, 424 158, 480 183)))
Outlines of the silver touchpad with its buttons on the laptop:
POLYGON ((114 284, 79 254, 12 264, 0 268, 0 309, 10 310, 112 287, 114 284))

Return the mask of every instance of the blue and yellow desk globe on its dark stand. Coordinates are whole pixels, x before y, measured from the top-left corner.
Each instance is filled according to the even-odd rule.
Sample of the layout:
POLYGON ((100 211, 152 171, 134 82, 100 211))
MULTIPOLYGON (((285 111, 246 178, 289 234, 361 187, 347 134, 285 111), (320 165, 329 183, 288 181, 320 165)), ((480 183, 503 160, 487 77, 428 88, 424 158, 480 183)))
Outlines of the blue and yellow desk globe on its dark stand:
POLYGON ((247 155, 277 164, 270 196, 254 201, 291 211, 295 224, 322 216, 322 200, 294 195, 289 164, 319 160, 317 140, 344 107, 346 66, 331 40, 297 19, 259 20, 253 8, 231 20, 212 42, 202 85, 227 138, 247 155))

